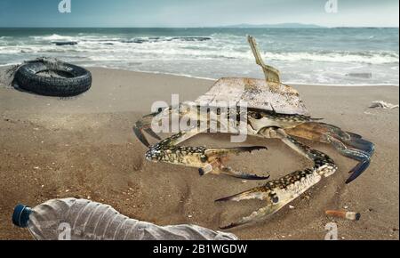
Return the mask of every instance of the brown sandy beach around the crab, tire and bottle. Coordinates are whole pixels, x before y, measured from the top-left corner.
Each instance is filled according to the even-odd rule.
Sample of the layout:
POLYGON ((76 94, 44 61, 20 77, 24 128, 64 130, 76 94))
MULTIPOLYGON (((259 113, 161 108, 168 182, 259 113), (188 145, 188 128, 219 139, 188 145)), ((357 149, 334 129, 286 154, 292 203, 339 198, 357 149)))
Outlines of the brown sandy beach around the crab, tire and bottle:
MULTIPOLYGON (((214 199, 261 185, 207 174, 195 168, 145 161, 133 123, 154 101, 195 100, 211 80, 90 69, 89 92, 52 98, 0 86, 0 239, 31 239, 12 225, 13 207, 36 206, 52 198, 90 198, 139 220, 160 225, 193 223, 213 230, 263 206, 261 201, 214 203, 214 199)), ((340 169, 277 214, 230 232, 241 239, 324 239, 336 222, 340 239, 399 239, 399 111, 368 109, 372 101, 399 102, 396 86, 296 86, 313 117, 359 133, 376 145, 372 164, 356 181, 344 182, 356 162, 332 147, 310 146, 329 154, 340 169), (361 213, 349 222, 328 218, 327 209, 361 213)), ((185 145, 232 146, 229 135, 201 134, 185 145)), ((152 141, 155 142, 155 141, 152 141)), ((252 155, 232 157, 233 165, 276 179, 310 163, 280 141, 249 137, 266 145, 252 155)))

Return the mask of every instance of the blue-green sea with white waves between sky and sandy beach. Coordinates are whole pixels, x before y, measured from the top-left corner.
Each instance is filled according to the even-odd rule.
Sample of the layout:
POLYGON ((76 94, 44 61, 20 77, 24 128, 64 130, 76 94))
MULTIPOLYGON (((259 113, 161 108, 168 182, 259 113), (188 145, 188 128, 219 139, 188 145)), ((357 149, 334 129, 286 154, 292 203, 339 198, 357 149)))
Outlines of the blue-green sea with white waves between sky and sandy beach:
POLYGON ((398 28, 0 28, 0 66, 53 57, 186 77, 258 77, 247 35, 287 84, 399 85, 398 28))

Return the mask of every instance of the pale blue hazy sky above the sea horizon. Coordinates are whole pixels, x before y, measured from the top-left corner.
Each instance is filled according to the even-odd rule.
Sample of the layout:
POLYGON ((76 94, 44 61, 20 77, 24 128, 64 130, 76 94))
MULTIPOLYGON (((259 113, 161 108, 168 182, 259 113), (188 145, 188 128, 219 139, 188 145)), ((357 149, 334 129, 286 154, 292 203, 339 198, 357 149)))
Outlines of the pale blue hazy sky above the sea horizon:
POLYGON ((0 0, 0 27, 214 27, 307 23, 397 27, 398 0, 0 0), (329 5, 326 12, 325 4, 329 5), (332 12, 333 11, 333 12, 332 12))

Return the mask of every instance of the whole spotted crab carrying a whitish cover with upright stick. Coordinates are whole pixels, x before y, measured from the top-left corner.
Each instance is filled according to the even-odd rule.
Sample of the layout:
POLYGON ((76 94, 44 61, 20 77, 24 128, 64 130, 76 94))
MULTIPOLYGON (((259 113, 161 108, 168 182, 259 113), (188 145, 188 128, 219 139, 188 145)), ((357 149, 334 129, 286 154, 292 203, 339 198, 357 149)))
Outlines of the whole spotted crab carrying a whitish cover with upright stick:
POLYGON ((344 131, 335 125, 325 124, 321 122, 321 118, 310 117, 299 93, 291 86, 282 84, 279 71, 263 62, 255 39, 248 36, 248 41, 252 47, 256 63, 264 71, 265 80, 221 78, 208 93, 200 96, 196 101, 181 102, 175 106, 159 109, 142 117, 133 126, 136 136, 148 147, 146 159, 153 162, 196 167, 200 175, 217 173, 246 180, 268 179, 269 175, 261 176, 246 173, 226 165, 230 154, 267 149, 265 146, 209 149, 204 146, 188 147, 180 145, 181 142, 194 137, 198 133, 210 131, 212 124, 224 128, 223 133, 240 133, 238 128, 240 128, 239 124, 242 123, 243 118, 245 118, 244 128, 247 135, 279 139, 314 163, 307 169, 267 181, 260 187, 248 189, 227 198, 217 199, 216 202, 260 199, 266 203, 266 206, 244 216, 237 222, 221 226, 221 229, 230 229, 248 222, 265 219, 292 202, 293 199, 298 198, 302 193, 316 185, 318 181, 321 181, 322 178, 337 171, 338 166, 331 157, 319 150, 311 149, 301 143, 300 139, 331 144, 341 155, 356 160, 357 164, 349 172, 350 176, 346 183, 354 181, 368 168, 374 152, 373 143, 364 140, 361 135, 344 131), (236 107, 229 106, 222 109, 219 101, 233 101, 236 103, 236 107), (240 109, 240 103, 246 104, 245 109, 240 109), (179 117, 189 117, 196 123, 162 140, 152 127, 160 124, 165 117, 173 116, 173 114, 179 117), (228 122, 223 122, 225 119, 221 119, 221 117, 234 118, 228 119, 228 122), (159 142, 154 145, 149 144, 144 132, 156 138, 159 142))

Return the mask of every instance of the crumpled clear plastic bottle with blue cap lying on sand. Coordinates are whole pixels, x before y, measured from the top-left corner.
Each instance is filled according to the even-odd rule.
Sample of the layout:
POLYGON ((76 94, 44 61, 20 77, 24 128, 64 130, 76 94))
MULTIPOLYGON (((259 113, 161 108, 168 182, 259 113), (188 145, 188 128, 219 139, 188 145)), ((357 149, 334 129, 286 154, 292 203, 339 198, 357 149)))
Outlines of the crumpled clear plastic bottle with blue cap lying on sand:
POLYGON ((236 240, 230 233, 196 225, 157 226, 85 199, 52 199, 30 208, 18 205, 12 222, 38 240, 236 240))

